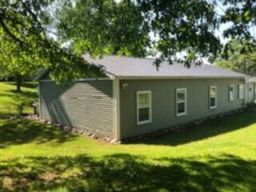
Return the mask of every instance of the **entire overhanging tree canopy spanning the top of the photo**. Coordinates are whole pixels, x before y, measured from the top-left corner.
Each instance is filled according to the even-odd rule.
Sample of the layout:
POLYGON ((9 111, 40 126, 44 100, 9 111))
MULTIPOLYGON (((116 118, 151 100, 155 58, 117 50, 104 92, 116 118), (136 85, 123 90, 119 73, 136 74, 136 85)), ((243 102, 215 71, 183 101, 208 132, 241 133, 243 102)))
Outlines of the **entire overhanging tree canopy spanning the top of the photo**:
MULTIPOLYGON (((225 38, 255 42, 253 0, 3 0, 0 2, 0 66, 50 69, 55 81, 98 77, 102 69, 86 63, 92 57, 154 54, 170 63, 185 53, 186 65, 214 59, 222 50, 216 30, 225 38), (221 7, 222 13, 218 12, 221 7), (7 53, 7 54, 6 54, 7 53), (6 56, 8 55, 8 56, 6 56), (26 62, 23 62, 26 61, 26 62)), ((229 54, 227 43, 224 55, 229 54)), ((23 70, 24 71, 24 70, 23 70)))

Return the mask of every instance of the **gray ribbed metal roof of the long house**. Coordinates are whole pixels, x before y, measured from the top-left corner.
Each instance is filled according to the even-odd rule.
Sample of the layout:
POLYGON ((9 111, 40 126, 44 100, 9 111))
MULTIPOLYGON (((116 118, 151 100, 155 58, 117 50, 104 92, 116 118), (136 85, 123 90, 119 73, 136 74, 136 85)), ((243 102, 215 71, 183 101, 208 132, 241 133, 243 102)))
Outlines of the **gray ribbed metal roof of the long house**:
POLYGON ((153 65, 153 58, 126 58, 118 56, 105 56, 102 59, 90 58, 89 54, 82 56, 87 62, 102 65, 106 74, 120 78, 246 78, 230 70, 210 65, 191 65, 188 69, 182 63, 162 62, 159 69, 153 65))

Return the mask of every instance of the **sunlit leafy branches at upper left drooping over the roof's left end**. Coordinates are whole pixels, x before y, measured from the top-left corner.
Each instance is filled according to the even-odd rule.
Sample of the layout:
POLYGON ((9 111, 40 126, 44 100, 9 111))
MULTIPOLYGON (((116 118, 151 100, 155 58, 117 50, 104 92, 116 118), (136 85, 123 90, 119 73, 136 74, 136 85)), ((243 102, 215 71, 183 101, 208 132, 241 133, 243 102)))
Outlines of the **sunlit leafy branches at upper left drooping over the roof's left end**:
POLYGON ((57 82, 101 75, 100 67, 86 63, 81 55, 50 36, 53 3, 53 0, 0 2, 0 66, 17 69, 19 65, 18 71, 22 73, 48 68, 57 82))

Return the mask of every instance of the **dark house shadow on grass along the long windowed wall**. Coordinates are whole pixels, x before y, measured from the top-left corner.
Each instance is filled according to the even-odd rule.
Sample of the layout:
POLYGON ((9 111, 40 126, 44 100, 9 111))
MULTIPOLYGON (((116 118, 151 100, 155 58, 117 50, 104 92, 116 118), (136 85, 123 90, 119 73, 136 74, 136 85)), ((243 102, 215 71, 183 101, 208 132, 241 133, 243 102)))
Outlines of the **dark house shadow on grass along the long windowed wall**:
POLYGON ((185 130, 179 130, 174 134, 169 134, 162 138, 151 138, 142 142, 138 141, 134 143, 178 146, 214 137, 218 134, 225 134, 234 130, 239 130, 254 123, 256 123, 256 112, 247 110, 242 114, 231 114, 223 118, 208 120, 200 126, 190 126, 185 130))

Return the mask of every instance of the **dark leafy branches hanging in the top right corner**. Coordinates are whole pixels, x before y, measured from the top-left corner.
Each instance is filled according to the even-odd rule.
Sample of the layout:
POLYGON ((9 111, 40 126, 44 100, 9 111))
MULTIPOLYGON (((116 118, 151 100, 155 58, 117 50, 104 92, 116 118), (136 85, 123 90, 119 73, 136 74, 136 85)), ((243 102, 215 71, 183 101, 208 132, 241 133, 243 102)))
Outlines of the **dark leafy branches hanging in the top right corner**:
MULTIPOLYGON (((225 13, 220 18, 220 23, 229 23, 230 27, 223 31, 223 37, 236 39, 227 42, 224 46, 222 58, 229 59, 230 51, 233 52, 235 43, 242 52, 253 54, 256 42, 256 2, 254 0, 222 0, 226 6, 225 13)), ((244 53, 242 53, 244 54, 244 53)))

